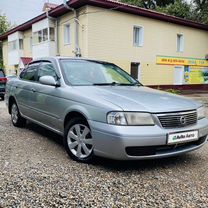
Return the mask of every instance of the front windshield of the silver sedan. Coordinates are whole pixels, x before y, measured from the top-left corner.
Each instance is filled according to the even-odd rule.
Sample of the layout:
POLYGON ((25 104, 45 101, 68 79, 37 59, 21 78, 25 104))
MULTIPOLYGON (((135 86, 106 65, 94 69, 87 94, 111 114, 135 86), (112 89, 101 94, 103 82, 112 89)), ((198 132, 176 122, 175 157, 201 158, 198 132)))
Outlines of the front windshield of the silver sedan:
POLYGON ((61 60, 65 82, 69 85, 140 85, 118 66, 90 60, 61 60))

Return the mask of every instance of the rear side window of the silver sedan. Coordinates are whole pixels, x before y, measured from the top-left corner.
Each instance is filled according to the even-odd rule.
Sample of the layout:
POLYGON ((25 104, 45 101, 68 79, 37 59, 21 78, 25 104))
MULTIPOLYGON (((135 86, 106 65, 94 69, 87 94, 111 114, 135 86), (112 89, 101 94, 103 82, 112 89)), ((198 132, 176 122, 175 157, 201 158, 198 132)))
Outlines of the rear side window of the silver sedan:
POLYGON ((37 69, 39 63, 31 64, 26 69, 24 69, 20 74, 20 79, 27 81, 37 81, 37 69))

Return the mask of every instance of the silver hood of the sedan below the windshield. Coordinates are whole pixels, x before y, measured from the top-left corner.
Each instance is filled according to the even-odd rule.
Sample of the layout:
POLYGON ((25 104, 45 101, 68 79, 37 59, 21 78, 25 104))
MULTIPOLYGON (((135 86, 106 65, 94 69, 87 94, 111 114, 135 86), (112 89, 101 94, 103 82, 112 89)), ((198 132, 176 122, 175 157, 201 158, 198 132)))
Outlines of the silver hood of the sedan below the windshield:
POLYGON ((151 113, 193 110, 200 103, 182 96, 148 87, 137 86, 87 86, 77 87, 81 94, 95 100, 105 100, 124 111, 145 111, 151 113))

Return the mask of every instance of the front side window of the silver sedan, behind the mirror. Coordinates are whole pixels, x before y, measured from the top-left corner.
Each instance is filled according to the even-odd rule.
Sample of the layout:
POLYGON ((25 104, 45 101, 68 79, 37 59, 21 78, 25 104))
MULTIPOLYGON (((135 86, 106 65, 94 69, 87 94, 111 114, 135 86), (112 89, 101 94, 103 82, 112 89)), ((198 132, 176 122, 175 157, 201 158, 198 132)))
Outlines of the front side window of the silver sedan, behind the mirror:
POLYGON ((57 81, 58 77, 51 62, 42 62, 38 70, 38 81, 42 76, 52 76, 57 81))

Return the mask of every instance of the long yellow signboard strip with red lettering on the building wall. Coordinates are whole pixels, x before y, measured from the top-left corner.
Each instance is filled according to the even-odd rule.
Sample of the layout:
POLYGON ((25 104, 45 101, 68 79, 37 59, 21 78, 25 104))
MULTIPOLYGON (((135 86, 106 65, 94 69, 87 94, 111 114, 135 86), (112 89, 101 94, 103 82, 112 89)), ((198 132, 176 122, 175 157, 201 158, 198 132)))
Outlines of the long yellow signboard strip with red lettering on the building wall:
POLYGON ((180 65, 180 66, 208 66, 206 59, 182 58, 171 56, 157 56, 157 64, 162 65, 180 65))

